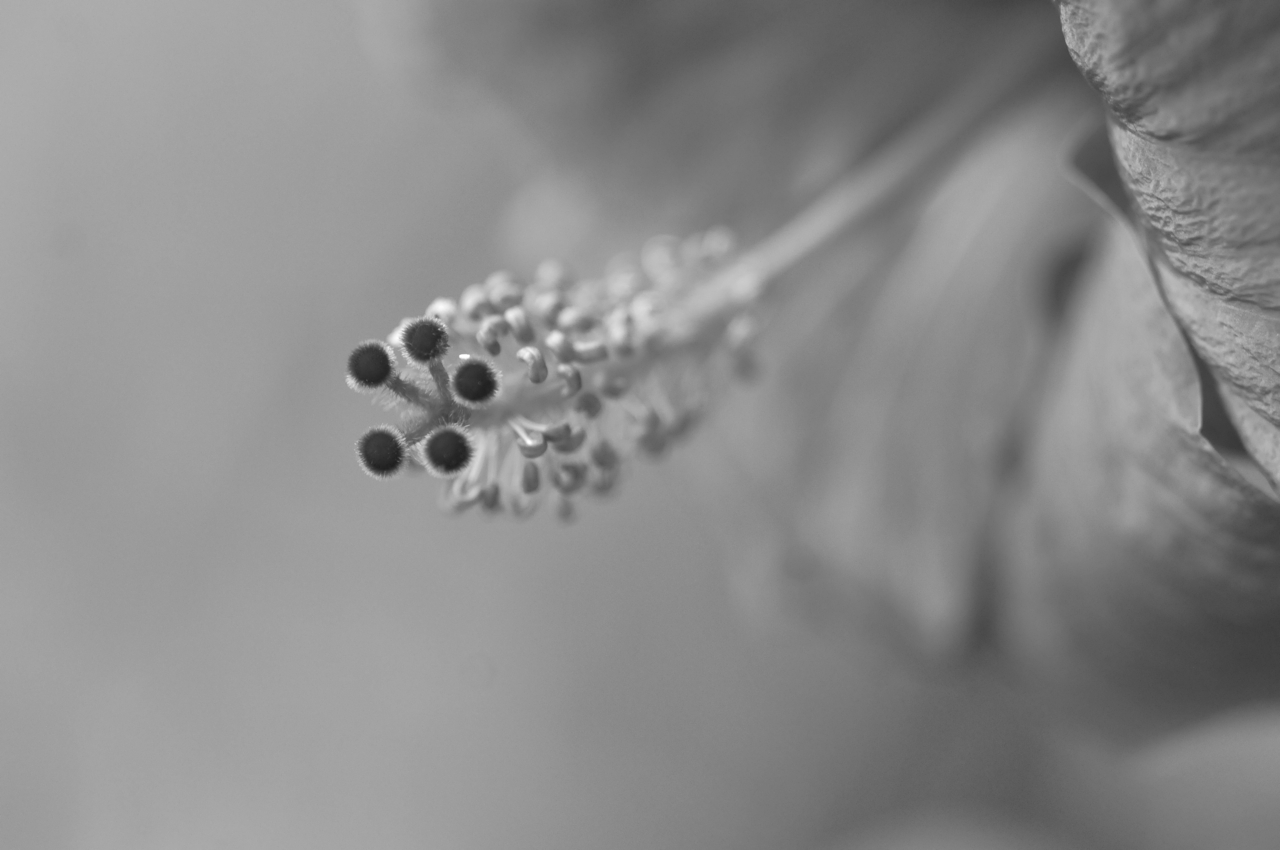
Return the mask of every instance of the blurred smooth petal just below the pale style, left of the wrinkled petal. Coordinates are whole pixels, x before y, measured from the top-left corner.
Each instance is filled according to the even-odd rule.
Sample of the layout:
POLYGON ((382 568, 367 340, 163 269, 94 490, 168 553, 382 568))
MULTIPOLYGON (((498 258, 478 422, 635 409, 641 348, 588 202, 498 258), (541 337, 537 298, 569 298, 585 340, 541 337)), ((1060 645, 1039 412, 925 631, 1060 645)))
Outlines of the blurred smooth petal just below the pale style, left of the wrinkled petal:
POLYGON ((918 220, 815 262, 771 328, 763 385, 723 412, 748 458, 724 474, 767 504, 728 521, 755 531, 735 530, 741 559, 823 627, 933 659, 979 639, 995 499, 1098 220, 1062 165, 1088 113, 1066 86, 993 124, 918 220))

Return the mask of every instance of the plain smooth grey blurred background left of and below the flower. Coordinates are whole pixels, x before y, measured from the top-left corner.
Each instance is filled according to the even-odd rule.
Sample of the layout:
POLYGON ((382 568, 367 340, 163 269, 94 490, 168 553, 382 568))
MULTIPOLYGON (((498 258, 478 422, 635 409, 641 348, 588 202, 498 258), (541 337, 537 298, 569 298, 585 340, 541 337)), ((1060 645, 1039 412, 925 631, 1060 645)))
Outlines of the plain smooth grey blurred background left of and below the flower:
POLYGON ((0 4, 0 846, 1280 844, 1274 719, 1117 751, 751 613, 678 463, 364 476, 347 349, 524 259, 541 156, 371 14, 0 4))

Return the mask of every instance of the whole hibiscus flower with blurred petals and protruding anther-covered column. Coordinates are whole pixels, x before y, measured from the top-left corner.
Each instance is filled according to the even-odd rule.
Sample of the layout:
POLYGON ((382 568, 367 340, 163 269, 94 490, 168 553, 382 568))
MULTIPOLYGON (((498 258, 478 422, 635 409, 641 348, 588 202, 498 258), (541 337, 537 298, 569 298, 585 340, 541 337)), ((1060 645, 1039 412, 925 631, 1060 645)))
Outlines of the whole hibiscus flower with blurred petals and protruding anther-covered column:
POLYGON ((498 277, 393 333, 411 361, 422 321, 472 362, 513 335, 497 412, 451 398, 462 365, 422 357, 415 380, 367 343, 425 411, 365 438, 366 462, 394 461, 372 471, 416 447, 461 472, 452 506, 524 512, 541 477, 612 490, 616 444, 708 420, 690 479, 742 571, 823 627, 995 667, 1125 737, 1277 695, 1274 4, 380 8, 434 45, 412 56, 445 56, 425 78, 461 68, 548 151, 513 257, 603 264, 719 223, 740 251, 713 232, 584 282, 544 266, 527 297, 498 277), (644 367, 593 394, 641 291, 662 293, 644 367), (534 309, 556 292, 581 328, 534 309), (593 321, 602 349, 575 349, 593 321), (531 390, 548 364, 557 393, 531 390), (724 385, 754 364, 756 385, 724 385), (548 444, 571 460, 536 461, 548 444))

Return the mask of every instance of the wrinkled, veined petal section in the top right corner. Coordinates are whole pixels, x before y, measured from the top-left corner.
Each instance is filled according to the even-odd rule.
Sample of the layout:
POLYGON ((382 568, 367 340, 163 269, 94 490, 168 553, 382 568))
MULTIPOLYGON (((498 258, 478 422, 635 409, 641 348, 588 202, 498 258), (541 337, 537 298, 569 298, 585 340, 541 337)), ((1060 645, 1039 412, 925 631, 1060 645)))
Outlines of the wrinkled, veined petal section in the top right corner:
POLYGON ((1120 172, 1179 325, 1280 476, 1280 5, 1073 0, 1068 46, 1111 108, 1120 172))

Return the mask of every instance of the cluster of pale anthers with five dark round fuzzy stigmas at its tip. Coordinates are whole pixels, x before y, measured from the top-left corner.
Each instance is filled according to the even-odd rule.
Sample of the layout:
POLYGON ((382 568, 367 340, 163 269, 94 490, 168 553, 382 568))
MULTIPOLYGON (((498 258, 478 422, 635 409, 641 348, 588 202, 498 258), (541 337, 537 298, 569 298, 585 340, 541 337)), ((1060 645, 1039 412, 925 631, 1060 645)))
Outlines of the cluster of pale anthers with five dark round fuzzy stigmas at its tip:
POLYGON ((403 419, 360 438, 362 466, 376 477, 422 467, 445 479, 454 509, 527 515, 550 492, 571 516, 576 494, 614 488, 626 454, 659 453, 692 424, 713 381, 708 360, 748 362, 742 305, 730 287, 719 307, 708 298, 731 250, 713 230, 652 241, 596 279, 553 261, 529 282, 494 274, 387 342, 361 343, 347 383, 403 419))

